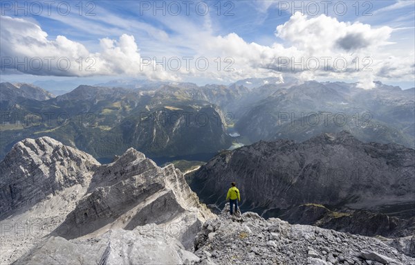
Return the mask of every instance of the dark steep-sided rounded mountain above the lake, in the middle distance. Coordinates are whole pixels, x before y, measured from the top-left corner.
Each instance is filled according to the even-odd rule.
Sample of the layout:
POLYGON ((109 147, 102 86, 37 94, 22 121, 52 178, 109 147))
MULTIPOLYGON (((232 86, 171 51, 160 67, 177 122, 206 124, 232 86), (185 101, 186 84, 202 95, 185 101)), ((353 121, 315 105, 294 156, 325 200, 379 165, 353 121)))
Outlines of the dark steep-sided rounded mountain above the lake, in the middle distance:
POLYGON ((218 107, 186 105, 154 109, 124 119, 112 134, 150 156, 209 153, 229 147, 225 118, 218 107))

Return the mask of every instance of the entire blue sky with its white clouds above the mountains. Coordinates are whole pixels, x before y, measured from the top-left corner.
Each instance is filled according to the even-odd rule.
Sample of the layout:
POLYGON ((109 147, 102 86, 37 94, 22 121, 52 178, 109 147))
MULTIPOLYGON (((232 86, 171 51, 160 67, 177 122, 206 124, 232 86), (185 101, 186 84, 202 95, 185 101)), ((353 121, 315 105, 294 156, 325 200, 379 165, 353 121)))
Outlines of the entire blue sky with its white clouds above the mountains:
POLYGON ((295 75, 304 80, 361 82, 365 88, 373 80, 414 86, 414 1, 328 2, 324 6, 322 1, 82 1, 82 5, 55 1, 48 12, 45 1, 2 1, 1 79, 98 83, 138 77, 203 84, 295 75), (295 11, 303 14, 296 16, 295 11), (48 55, 68 58, 71 68, 30 66, 34 57, 45 64, 48 55), (82 67, 76 62, 79 57, 82 67), (95 71, 85 71, 92 62, 86 57, 93 57, 95 71), (177 71, 163 57, 178 58, 181 68, 177 71), (189 69, 183 66, 183 57, 192 57, 189 69), (208 70, 194 65, 200 57, 207 58, 208 70), (282 57, 300 62, 313 57, 320 64, 322 57, 342 57, 347 69, 309 71, 306 65, 298 70, 292 60, 284 68, 282 57), (358 66, 352 62, 356 57, 358 66), (371 58, 367 68, 372 70, 363 73, 369 62, 363 61, 365 57, 371 58), (24 58, 28 69, 15 64, 24 58), (145 65, 143 58, 151 62, 145 65), (160 65, 154 68, 157 62, 166 71, 160 65), (233 71, 225 68, 230 63, 233 71))

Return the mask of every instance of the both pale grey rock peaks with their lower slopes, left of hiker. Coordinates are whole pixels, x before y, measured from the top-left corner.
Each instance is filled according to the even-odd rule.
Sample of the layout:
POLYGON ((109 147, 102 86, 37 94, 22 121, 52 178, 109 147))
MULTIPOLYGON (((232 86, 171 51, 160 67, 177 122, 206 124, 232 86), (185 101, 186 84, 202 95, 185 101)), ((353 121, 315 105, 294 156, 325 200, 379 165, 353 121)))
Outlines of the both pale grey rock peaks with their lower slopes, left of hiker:
POLYGON ((0 224, 5 229, 0 237, 6 262, 49 234, 54 237, 41 246, 75 248, 67 240, 102 235, 99 246, 122 237, 146 241, 152 229, 168 230, 163 239, 167 250, 182 257, 192 248, 202 223, 213 217, 180 170, 172 164, 158 167, 133 148, 113 163, 100 165, 91 155, 52 138, 26 139, 1 162, 1 176, 0 224), (8 229, 21 222, 36 231, 19 237, 8 229))

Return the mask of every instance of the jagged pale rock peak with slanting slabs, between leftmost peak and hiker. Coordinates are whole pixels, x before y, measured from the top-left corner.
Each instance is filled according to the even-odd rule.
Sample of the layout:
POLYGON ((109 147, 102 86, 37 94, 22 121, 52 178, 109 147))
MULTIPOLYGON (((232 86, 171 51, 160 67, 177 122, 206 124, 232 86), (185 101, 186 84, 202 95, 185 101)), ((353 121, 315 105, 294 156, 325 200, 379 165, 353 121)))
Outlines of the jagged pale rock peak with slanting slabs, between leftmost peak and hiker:
POLYGON ((131 230, 146 223, 164 223, 176 226, 176 238, 192 248, 192 238, 211 217, 180 170, 172 164, 160 168, 130 148, 95 172, 86 195, 54 235, 73 239, 81 236, 79 231, 85 226, 90 228, 85 234, 99 235, 109 228, 131 230), (75 229, 66 233, 65 227, 75 229))

